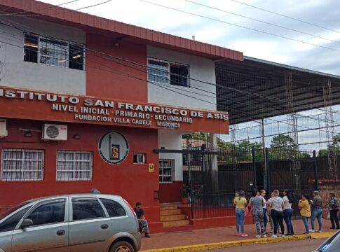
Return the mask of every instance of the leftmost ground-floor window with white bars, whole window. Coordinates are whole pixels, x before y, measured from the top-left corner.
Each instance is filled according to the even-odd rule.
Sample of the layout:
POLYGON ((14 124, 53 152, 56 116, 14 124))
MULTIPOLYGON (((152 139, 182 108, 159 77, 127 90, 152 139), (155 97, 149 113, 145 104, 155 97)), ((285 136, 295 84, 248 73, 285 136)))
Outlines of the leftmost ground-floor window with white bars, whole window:
POLYGON ((2 181, 39 181, 43 179, 43 151, 3 149, 2 181))

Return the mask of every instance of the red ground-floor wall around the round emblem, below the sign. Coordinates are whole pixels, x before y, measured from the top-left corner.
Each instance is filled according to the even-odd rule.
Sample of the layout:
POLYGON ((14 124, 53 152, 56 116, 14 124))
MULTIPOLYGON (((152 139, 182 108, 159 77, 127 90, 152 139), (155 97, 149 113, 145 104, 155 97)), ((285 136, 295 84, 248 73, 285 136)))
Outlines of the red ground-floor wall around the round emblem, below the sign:
POLYGON ((7 120, 8 137, 0 139, 0 149, 45 150, 45 167, 43 181, 0 181, 1 205, 17 204, 47 195, 89 193, 91 188, 97 188, 102 193, 122 195, 132 205, 137 201, 142 202, 144 208, 149 208, 150 217, 153 216, 151 221, 159 220, 159 202, 154 200, 154 190, 159 188, 158 155, 153 152, 158 147, 157 130, 67 124, 68 140, 57 142, 41 141, 41 132, 33 132, 33 137, 27 138, 24 137, 25 132, 18 130, 20 127, 41 130, 42 124, 32 120, 7 120), (130 144, 128 158, 120 165, 108 165, 97 151, 100 137, 110 131, 121 132, 130 144), (74 134, 79 134, 81 139, 74 140, 74 134), (57 151, 93 151, 93 180, 56 181, 57 151), (147 163, 155 165, 154 173, 149 173, 148 164, 133 164, 133 153, 147 153, 147 163))

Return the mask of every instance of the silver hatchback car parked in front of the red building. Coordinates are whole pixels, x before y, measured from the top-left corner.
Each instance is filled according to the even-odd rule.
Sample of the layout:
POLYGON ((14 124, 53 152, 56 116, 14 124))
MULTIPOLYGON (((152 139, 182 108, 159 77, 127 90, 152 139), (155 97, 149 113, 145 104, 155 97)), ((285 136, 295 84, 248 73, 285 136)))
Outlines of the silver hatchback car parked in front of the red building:
POLYGON ((0 214, 0 252, 137 252, 140 241, 135 211, 116 195, 43 197, 0 214))

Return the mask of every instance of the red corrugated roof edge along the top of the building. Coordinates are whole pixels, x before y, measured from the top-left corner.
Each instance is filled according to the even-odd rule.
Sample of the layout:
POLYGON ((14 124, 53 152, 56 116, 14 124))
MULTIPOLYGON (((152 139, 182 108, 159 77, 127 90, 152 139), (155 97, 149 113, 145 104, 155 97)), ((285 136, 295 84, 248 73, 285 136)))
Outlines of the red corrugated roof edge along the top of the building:
POLYGON ((39 15, 37 19, 46 20, 52 18, 53 22, 61 22, 73 27, 86 26, 105 31, 111 31, 118 34, 124 34, 135 38, 142 39, 147 43, 159 45, 161 47, 170 48, 172 50, 185 51, 194 55, 208 57, 210 59, 234 59, 243 61, 243 52, 222 48, 217 45, 210 45, 193 41, 188 38, 182 38, 163 32, 154 31, 128 25, 123 22, 100 18, 95 15, 81 13, 76 10, 69 10, 59 6, 53 6, 48 3, 42 3, 34 0, 0 0, 0 10, 10 13, 25 13, 18 15, 39 15))

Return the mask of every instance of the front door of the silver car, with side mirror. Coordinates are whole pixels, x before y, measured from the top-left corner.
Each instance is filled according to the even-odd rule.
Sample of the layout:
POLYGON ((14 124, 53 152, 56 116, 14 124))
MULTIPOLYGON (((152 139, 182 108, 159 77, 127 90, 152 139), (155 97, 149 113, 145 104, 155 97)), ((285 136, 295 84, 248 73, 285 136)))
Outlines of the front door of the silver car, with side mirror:
POLYGON ((14 230, 12 252, 69 251, 67 211, 67 197, 37 203, 14 230), (22 228, 27 219, 32 221, 32 225, 22 228))

